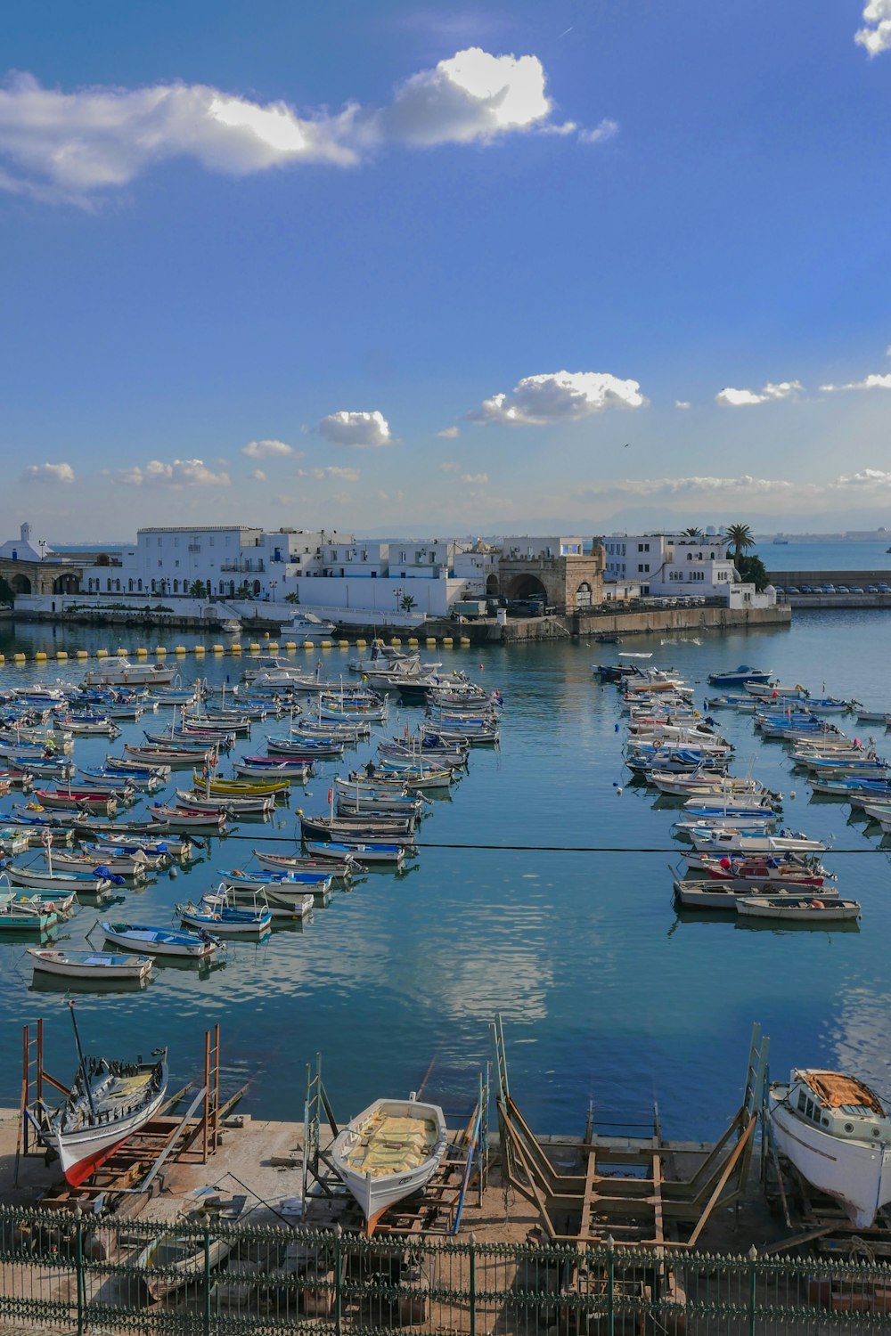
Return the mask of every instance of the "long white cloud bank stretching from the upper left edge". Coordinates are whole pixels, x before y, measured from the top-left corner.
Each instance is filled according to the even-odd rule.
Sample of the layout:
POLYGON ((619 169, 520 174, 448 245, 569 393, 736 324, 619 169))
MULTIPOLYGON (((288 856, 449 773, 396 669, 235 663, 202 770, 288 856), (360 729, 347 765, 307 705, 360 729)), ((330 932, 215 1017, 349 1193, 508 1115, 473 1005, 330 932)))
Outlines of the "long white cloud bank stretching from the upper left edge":
MULTIPOLYGON (((232 176, 301 163, 351 167, 387 144, 426 148, 529 131, 572 131, 550 118, 537 56, 469 47, 401 83, 389 104, 301 114, 208 84, 159 83, 63 92, 29 73, 0 87, 0 190, 85 204, 155 163, 187 156, 232 176)), ((612 122, 589 132, 608 138, 612 122)))

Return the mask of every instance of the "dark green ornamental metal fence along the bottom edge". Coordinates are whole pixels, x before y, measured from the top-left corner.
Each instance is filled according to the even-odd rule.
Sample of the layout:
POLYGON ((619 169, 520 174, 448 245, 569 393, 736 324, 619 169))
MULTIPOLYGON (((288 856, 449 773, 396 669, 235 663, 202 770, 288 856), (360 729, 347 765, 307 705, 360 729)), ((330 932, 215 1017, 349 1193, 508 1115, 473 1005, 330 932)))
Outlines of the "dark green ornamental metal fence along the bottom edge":
POLYGON ((4 1208, 0 1327, 94 1336, 818 1336, 891 1329, 891 1267, 4 1208))

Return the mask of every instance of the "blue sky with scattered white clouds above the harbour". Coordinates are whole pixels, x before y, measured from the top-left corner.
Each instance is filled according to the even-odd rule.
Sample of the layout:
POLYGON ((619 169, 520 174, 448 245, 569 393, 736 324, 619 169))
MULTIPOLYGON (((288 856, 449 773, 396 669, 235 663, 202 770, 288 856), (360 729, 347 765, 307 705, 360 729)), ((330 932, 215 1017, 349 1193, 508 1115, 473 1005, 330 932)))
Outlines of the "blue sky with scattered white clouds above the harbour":
POLYGON ((890 123, 891 0, 5 0, 0 538, 891 525, 890 123))

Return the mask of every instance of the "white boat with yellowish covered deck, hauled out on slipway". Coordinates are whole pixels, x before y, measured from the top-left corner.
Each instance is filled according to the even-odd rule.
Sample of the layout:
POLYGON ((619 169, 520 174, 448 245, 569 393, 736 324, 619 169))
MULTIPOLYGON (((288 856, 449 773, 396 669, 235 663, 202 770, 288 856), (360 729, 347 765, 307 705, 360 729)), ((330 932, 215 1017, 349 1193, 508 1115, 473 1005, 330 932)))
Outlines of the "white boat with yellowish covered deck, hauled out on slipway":
POLYGON ((375 1100, 331 1146, 331 1162, 369 1230, 394 1202, 427 1185, 445 1154, 442 1109, 417 1100, 375 1100))

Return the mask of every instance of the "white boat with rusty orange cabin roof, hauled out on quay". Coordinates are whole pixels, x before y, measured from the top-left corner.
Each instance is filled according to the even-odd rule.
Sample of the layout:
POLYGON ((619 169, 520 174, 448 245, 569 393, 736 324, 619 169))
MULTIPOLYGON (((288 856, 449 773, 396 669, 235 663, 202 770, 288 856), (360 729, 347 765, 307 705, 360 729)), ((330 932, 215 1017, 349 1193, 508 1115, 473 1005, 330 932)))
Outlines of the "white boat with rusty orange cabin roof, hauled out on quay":
POLYGON ((771 1083, 768 1109, 777 1149, 868 1229, 891 1201, 891 1120, 878 1094, 840 1071, 795 1067, 771 1083))

